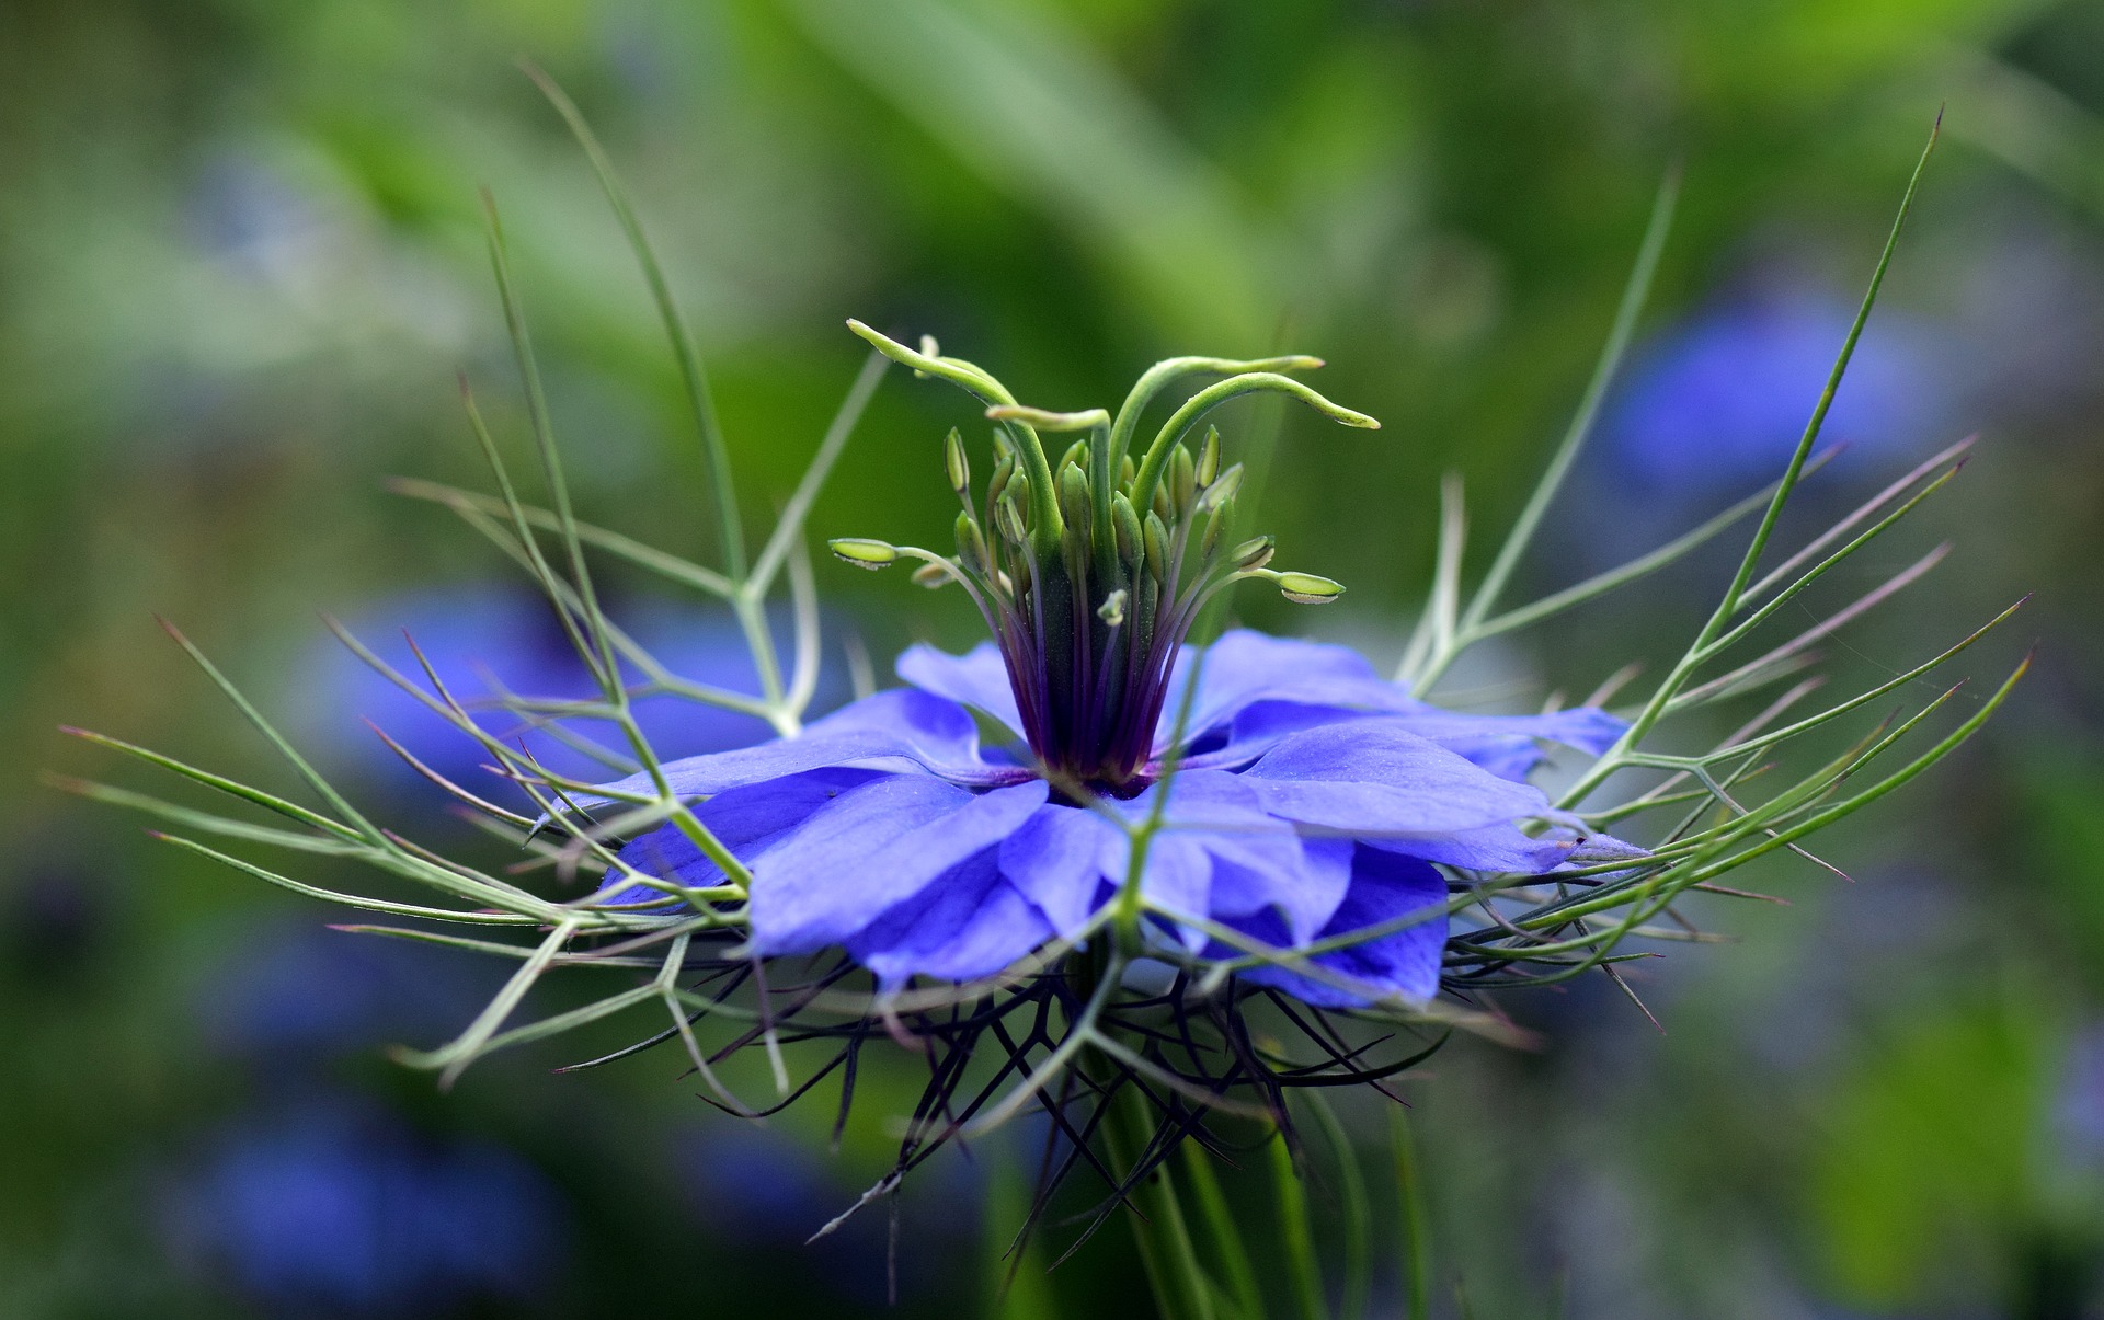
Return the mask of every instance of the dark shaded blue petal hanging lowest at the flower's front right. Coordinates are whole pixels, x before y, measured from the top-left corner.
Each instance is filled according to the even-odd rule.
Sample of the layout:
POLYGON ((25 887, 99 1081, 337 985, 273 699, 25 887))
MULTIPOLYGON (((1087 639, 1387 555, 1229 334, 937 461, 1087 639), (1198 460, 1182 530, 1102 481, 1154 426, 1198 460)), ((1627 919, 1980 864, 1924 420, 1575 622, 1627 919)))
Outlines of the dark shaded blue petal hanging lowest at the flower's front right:
POLYGON ((1448 929, 1445 900, 1445 881, 1424 862, 1357 847, 1351 858, 1351 889, 1344 893, 1344 904, 1336 910, 1336 916, 1321 929, 1321 940, 1363 931, 1410 912, 1427 912, 1424 921, 1405 925, 1399 931, 1309 958, 1319 967, 1351 977, 1368 994, 1353 994, 1340 986, 1286 971, 1283 967, 1254 967, 1243 971, 1241 977, 1260 986, 1275 986, 1294 998, 1326 1009, 1361 1007, 1378 994, 1427 1001, 1439 992, 1439 954, 1445 948, 1448 929))

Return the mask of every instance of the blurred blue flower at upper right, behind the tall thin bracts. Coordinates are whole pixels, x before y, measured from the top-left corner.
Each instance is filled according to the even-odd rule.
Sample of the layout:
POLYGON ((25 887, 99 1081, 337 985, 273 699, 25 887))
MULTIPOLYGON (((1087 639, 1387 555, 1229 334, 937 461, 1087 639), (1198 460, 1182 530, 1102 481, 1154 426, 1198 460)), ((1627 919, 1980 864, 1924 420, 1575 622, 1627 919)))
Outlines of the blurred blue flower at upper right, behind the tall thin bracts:
MULTIPOLYGON (((1616 475, 1668 502, 1744 492, 1782 471, 1826 387, 1856 305, 1763 277, 1639 353, 1607 406, 1616 475)), ((1927 452, 1955 439, 1946 341, 1881 309, 1856 345, 1822 444, 1927 452)))

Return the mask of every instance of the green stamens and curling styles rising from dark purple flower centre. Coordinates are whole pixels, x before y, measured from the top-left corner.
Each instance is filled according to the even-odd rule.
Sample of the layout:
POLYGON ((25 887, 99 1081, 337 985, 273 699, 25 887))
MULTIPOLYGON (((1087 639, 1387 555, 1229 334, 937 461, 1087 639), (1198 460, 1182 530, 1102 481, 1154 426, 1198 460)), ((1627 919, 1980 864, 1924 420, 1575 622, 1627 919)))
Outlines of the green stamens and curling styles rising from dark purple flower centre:
POLYGON ((997 429, 993 473, 980 492, 972 488, 964 439, 957 431, 947 437, 945 467, 962 504, 955 555, 861 538, 831 542, 833 553, 858 568, 919 559, 917 582, 966 589, 1008 664, 1023 736, 1054 784, 1111 795, 1145 786, 1176 652, 1203 605, 1233 582, 1267 578, 1300 603, 1342 595, 1328 578, 1267 568, 1271 536, 1233 538, 1241 465, 1220 467, 1214 427, 1206 427, 1195 452, 1191 444, 1208 412, 1267 389, 1347 425, 1378 427, 1277 374, 1321 366, 1317 359, 1176 357, 1140 376, 1113 418, 1102 408, 1023 408, 985 370, 938 357, 932 341, 915 353, 850 326, 892 359, 978 395, 997 429), (1197 372, 1229 378, 1187 399, 1136 454, 1134 433, 1151 397, 1197 372), (1041 437, 1056 433, 1081 437, 1052 462, 1041 437))

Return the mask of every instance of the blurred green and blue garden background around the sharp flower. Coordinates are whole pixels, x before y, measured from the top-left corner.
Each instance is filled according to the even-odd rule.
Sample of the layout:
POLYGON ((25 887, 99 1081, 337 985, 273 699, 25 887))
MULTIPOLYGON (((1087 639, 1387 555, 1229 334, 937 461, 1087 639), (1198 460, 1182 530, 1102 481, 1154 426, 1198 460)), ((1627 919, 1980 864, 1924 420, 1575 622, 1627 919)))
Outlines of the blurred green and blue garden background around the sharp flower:
MULTIPOLYGON (((1673 160, 1656 296, 1532 589, 1780 462, 1942 107, 1807 517, 1982 439, 1841 589, 1953 557, 1828 656, 1875 681, 2035 591, 1963 664, 1992 679, 2037 641, 2032 679, 1828 841, 1852 881, 1763 864, 1746 883, 1791 906, 1706 908, 1738 942, 1641 967, 1664 1034, 1607 986, 1509 1003, 1544 1049, 1458 1045, 1408 1095, 1441 1314, 2104 1314, 2096 0, 0 6, 0 1314, 1138 1307, 1115 1232, 995 1301, 1020 1194, 999 1148, 911 1183, 896 1312, 882 1215, 800 1246, 882 1173, 909 1064, 875 1074, 837 1154, 823 1097, 753 1129, 661 1055, 555 1076, 572 1053, 526 1049, 440 1095, 381 1047, 446 1038, 492 967, 326 931, 36 778, 130 774, 57 734, 84 723, 282 782, 160 612, 362 801, 444 834, 358 721, 410 738, 414 715, 318 610, 408 624, 461 673, 558 673, 499 557, 381 488, 478 483, 457 370, 518 433, 478 185, 587 515, 707 557, 673 364, 522 55, 638 193, 749 519, 856 370, 848 315, 934 332, 1052 408, 1115 401, 1168 353, 1283 343, 1387 429, 1288 418, 1262 523, 1351 595, 1319 618, 1252 595, 1241 618, 1382 658, 1422 599, 1439 475, 1466 475, 1479 530, 1517 509, 1673 160)), ((966 416, 894 372, 814 534, 936 538, 938 437, 966 416)), ((1656 662, 1719 568, 1521 637, 1450 700, 1517 708, 1656 662)), ((892 578, 821 570, 829 618, 879 658, 970 641, 962 601, 892 578)), ((701 603, 623 607, 734 681, 701 603)), ((753 736, 667 719, 690 746, 753 736)), ((1378 1173, 1378 1114, 1347 1118, 1378 1173)))

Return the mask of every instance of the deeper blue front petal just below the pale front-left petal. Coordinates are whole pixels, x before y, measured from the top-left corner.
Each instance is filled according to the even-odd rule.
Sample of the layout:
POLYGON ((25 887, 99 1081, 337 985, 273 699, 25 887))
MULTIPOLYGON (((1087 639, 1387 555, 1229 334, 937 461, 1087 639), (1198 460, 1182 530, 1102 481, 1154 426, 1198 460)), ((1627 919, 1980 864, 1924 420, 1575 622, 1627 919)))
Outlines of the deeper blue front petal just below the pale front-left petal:
POLYGON ((888 908, 848 954, 896 990, 909 977, 968 982, 993 975, 1052 937, 1052 923, 1002 876, 997 853, 978 849, 911 900, 888 908))

